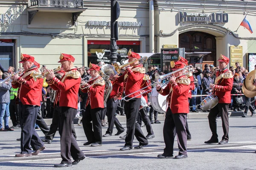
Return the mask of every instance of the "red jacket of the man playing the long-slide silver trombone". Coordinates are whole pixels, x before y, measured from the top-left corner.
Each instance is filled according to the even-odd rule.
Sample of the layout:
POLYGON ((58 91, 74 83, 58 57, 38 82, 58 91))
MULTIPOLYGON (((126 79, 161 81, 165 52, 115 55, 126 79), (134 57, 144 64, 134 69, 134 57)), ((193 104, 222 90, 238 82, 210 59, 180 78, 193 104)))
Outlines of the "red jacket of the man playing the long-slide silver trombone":
POLYGON ((166 88, 161 88, 158 93, 163 96, 168 95, 167 101, 170 101, 169 107, 172 113, 189 113, 189 89, 190 79, 186 76, 182 76, 177 78, 175 83, 168 83, 166 88))

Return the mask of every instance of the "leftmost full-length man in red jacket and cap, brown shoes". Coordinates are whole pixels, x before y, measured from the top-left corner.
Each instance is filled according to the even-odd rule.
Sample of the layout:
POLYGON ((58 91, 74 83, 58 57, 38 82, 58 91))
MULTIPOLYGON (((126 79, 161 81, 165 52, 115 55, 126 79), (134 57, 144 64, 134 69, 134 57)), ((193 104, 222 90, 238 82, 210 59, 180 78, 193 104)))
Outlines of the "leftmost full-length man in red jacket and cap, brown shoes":
POLYGON ((35 131, 35 121, 42 100, 43 79, 40 78, 35 81, 31 76, 32 74, 40 74, 34 57, 21 54, 20 59, 24 72, 20 76, 17 74, 12 76, 12 88, 18 88, 17 101, 21 108, 21 152, 15 156, 25 157, 37 155, 46 148, 35 131), (30 145, 35 150, 34 153, 31 153, 30 145))

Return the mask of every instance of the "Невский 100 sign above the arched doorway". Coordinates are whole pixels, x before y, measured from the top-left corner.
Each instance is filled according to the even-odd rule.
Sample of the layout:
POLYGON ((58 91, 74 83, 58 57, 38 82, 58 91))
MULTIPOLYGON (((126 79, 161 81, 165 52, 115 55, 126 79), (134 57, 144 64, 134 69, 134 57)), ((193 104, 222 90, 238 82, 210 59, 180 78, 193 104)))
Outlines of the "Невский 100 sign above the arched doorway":
POLYGON ((179 22, 227 23, 227 13, 179 12, 179 22))

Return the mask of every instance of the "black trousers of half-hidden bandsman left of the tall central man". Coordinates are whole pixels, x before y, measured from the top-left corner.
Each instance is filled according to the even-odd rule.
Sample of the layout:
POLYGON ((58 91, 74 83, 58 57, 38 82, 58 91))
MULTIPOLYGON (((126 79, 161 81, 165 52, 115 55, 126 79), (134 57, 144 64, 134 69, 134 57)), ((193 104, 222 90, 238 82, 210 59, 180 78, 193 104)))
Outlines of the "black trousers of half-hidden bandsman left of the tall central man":
POLYGON ((106 131, 106 133, 112 134, 114 125, 116 125, 117 131, 125 130, 115 115, 118 104, 119 104, 119 99, 116 102, 114 102, 113 98, 108 99, 107 101, 108 130, 106 131))

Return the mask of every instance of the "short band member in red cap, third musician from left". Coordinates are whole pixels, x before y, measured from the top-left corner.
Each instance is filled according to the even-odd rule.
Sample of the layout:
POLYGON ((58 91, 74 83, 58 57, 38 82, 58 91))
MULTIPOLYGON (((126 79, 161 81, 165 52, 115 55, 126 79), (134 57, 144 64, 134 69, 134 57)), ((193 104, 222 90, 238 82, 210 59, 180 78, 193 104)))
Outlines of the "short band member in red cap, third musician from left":
POLYGON ((88 93, 86 109, 83 114, 83 128, 88 140, 84 143, 85 146, 90 144, 93 147, 102 146, 101 111, 104 108, 105 81, 99 76, 99 70, 98 65, 90 63, 90 76, 94 80, 89 80, 88 83, 80 86, 83 93, 88 93), (98 78, 95 79, 95 77, 98 78))

